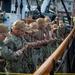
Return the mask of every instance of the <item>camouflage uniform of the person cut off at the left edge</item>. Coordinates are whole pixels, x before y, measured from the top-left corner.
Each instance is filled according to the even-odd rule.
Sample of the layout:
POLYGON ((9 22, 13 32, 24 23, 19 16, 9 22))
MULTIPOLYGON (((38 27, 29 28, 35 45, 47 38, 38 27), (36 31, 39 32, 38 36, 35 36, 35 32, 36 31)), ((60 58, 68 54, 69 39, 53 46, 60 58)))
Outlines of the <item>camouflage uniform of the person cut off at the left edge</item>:
MULTIPOLYGON (((11 49, 8 49, 8 47, 3 43, 0 42, 0 59, 3 60, 1 63, 1 67, 4 67, 5 69, 5 64, 6 61, 8 60, 17 60, 18 55, 16 54, 16 52, 13 52, 11 49)), ((3 71, 2 71, 3 72, 3 71)))

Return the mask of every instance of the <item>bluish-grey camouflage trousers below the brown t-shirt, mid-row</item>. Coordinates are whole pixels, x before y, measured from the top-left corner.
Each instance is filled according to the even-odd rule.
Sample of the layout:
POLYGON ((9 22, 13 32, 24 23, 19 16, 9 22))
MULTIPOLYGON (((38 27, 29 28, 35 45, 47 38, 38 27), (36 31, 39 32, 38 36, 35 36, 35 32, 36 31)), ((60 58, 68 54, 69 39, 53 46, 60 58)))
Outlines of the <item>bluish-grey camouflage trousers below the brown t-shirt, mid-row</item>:
POLYGON ((33 52, 33 62, 37 67, 39 67, 43 63, 43 53, 42 53, 42 48, 34 48, 33 52))

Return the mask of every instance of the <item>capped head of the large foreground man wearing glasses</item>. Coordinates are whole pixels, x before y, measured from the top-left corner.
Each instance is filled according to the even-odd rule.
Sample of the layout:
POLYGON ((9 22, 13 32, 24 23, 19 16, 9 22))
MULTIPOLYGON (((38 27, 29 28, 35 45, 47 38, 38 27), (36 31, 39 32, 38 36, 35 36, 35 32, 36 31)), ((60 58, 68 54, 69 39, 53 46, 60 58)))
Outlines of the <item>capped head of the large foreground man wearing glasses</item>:
POLYGON ((28 28, 24 21, 17 20, 13 23, 12 31, 14 32, 16 36, 19 36, 19 37, 22 36, 24 32, 27 30, 28 28))

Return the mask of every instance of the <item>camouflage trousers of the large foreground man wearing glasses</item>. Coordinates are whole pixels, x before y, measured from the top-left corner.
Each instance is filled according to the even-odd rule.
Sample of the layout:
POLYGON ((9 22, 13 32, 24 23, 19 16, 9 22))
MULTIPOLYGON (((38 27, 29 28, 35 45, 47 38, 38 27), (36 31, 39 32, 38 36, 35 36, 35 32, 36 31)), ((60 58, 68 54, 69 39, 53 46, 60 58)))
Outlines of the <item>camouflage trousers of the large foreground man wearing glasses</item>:
POLYGON ((6 71, 11 73, 30 73, 26 57, 7 61, 6 71))

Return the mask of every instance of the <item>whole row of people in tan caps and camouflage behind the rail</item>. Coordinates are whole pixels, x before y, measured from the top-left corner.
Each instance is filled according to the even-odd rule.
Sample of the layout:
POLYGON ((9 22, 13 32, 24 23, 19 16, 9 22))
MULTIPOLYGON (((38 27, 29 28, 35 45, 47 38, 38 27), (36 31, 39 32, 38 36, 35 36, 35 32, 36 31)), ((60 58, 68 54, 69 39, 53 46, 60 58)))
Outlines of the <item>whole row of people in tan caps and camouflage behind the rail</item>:
POLYGON ((73 28, 68 29, 57 16, 46 16, 26 24, 13 23, 9 31, 0 23, 0 72, 33 73, 64 41, 73 28))

